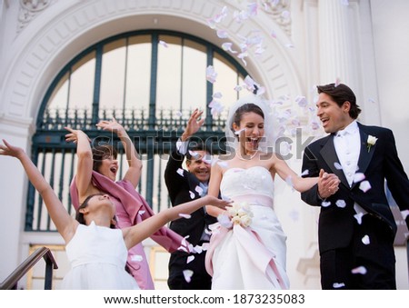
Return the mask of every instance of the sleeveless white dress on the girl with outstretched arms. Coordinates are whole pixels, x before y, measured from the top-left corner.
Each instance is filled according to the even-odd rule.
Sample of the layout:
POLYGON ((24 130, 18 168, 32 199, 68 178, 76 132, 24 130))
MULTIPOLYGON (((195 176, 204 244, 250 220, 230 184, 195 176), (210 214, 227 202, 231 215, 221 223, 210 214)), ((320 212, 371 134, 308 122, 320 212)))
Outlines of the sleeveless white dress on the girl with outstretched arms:
POLYGON ((71 270, 64 277, 62 289, 139 289, 135 279, 125 271, 128 251, 120 229, 98 226, 94 222, 79 224, 65 251, 71 270))

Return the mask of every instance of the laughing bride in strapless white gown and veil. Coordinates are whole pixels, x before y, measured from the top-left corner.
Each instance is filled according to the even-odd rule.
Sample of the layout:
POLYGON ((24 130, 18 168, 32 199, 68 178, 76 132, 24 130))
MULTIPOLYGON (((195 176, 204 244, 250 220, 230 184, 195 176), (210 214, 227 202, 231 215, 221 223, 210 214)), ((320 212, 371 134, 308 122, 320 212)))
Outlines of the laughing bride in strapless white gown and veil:
MULTIPOLYGON (((208 194, 234 201, 228 211, 207 206, 218 217, 214 225, 206 270, 212 289, 288 289, 285 273, 286 236, 274 213, 274 176, 291 181, 298 192, 319 178, 302 178, 271 149, 273 122, 268 105, 256 95, 238 100, 230 108, 226 138, 231 153, 212 166, 208 194)), ((321 175, 322 176, 322 175, 321 175)), ((338 178, 332 176, 333 190, 338 178)))

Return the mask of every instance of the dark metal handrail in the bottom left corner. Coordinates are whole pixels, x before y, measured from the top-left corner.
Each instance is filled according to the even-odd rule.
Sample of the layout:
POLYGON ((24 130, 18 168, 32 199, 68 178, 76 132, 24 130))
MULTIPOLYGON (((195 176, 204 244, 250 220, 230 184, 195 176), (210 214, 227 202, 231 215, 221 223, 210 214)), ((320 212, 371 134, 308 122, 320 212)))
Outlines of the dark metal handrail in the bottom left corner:
POLYGON ((18 281, 34 267, 35 263, 44 258, 45 260, 45 290, 51 290, 53 283, 53 269, 57 269, 58 265, 55 262, 53 253, 47 247, 40 247, 35 250, 25 262, 17 266, 15 271, 11 273, 3 283, 0 283, 0 290, 15 290, 18 281))

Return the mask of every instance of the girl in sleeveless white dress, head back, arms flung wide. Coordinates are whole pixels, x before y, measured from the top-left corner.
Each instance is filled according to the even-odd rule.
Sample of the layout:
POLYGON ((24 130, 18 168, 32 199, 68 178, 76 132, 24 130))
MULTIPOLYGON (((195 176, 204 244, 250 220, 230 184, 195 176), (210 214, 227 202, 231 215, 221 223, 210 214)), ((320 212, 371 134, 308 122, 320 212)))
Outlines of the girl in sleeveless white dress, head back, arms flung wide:
POLYGON ((3 142, 4 144, 0 144, 0 154, 13 156, 23 164, 25 173, 41 194, 52 221, 65 240, 71 270, 63 280, 64 289, 139 289, 135 279, 125 271, 128 249, 168 222, 178 218, 185 219, 180 214, 190 214, 205 204, 220 208, 230 204, 213 196, 205 196, 166 209, 140 224, 120 230, 111 229, 115 224, 115 205, 109 196, 93 194, 78 208, 78 220, 75 220, 66 212, 53 188, 24 150, 5 140, 3 142))

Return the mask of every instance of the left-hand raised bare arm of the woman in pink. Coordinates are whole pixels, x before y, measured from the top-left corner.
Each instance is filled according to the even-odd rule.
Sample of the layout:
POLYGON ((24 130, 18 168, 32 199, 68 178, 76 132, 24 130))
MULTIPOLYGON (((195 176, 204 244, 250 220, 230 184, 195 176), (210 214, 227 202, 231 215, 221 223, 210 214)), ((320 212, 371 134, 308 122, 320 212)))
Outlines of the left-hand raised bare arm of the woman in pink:
POLYGON ((85 200, 89 194, 88 189, 91 186, 91 178, 93 174, 93 151, 88 136, 81 130, 75 130, 70 127, 65 127, 70 134, 65 134, 67 142, 76 144, 76 156, 78 162, 76 164, 76 187, 78 190, 79 203, 85 200))

